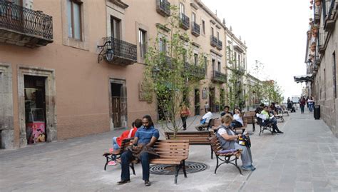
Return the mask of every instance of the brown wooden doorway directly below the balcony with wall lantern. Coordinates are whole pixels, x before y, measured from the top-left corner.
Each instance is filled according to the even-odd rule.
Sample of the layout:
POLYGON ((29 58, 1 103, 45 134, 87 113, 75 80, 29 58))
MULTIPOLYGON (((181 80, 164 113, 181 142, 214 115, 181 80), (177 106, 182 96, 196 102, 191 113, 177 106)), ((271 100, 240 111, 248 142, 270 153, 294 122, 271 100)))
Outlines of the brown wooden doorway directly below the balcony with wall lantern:
POLYGON ((111 129, 127 126, 126 82, 111 79, 111 129))

